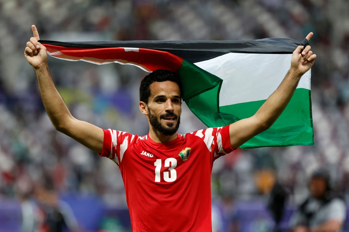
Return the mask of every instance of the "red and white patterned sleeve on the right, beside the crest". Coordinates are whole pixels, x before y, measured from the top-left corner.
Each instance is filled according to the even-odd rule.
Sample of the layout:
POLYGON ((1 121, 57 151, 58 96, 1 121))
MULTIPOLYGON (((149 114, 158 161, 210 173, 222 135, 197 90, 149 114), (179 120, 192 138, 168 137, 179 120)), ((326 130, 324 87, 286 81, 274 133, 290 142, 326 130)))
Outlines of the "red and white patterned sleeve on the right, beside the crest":
POLYGON ((215 159, 236 150, 230 145, 229 125, 198 130, 190 134, 200 137, 215 159))

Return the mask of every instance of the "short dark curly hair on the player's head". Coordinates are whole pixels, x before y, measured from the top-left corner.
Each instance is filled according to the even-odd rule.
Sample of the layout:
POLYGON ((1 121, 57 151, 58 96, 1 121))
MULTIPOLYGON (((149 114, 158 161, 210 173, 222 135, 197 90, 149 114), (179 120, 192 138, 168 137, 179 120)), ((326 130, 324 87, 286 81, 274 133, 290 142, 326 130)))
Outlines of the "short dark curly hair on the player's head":
POLYGON ((139 87, 139 100, 148 104, 148 99, 150 97, 150 85, 153 82, 163 82, 163 81, 173 81, 177 83, 180 90, 180 96, 182 96, 182 86, 179 81, 178 74, 169 70, 158 69, 150 73, 141 81, 141 86, 139 87))

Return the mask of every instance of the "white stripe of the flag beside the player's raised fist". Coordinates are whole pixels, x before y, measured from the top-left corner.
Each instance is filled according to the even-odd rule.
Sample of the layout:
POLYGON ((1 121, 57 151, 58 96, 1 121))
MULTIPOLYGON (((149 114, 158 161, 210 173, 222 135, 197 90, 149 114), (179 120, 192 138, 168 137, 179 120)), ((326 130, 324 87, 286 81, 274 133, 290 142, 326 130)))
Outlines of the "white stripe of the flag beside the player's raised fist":
MULTIPOLYGON (((228 53, 195 63, 223 79, 220 106, 267 99, 290 68, 292 54, 228 53)), ((310 89, 310 70, 297 88, 310 89)))

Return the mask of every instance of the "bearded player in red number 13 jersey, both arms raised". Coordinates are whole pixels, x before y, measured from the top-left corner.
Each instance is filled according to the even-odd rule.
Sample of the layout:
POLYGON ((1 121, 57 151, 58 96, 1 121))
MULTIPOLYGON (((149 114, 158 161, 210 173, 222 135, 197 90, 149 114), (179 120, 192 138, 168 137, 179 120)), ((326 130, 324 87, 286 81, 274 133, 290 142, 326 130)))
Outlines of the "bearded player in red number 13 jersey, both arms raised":
MULTIPOLYGON (((211 231, 210 172, 213 161, 236 150, 268 129, 279 117, 300 77, 316 55, 297 47, 291 67, 279 88, 251 118, 220 128, 177 134, 181 89, 176 73, 157 70, 142 80, 141 113, 149 134, 143 137, 102 130, 75 119, 56 90, 47 66, 46 48, 34 37, 24 55, 34 67, 46 112, 54 127, 120 168, 133 231, 211 231)), ((307 35, 309 40, 313 33, 307 35)))

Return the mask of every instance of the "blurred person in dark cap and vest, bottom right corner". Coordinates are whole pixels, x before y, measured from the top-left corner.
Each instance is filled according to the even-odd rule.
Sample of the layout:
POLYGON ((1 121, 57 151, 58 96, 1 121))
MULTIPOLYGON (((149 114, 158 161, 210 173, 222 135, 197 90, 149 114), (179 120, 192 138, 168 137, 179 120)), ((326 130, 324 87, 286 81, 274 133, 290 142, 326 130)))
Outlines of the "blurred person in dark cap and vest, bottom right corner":
POLYGON ((346 205, 331 196, 329 173, 316 170, 309 181, 310 197, 291 219, 292 232, 337 232, 346 217, 346 205))

